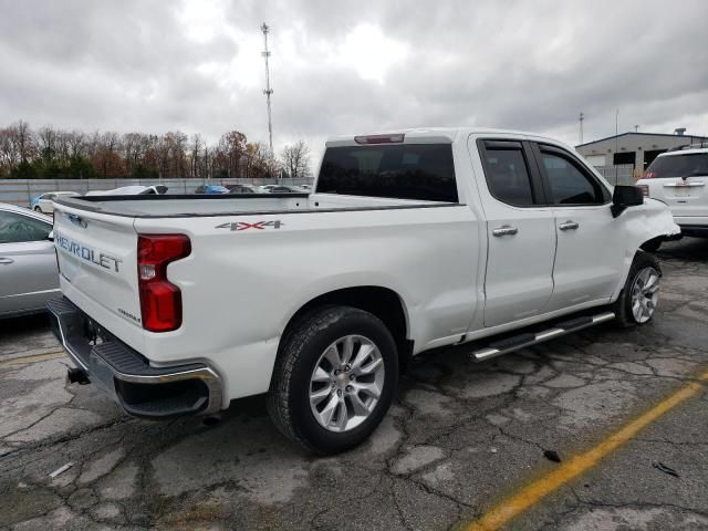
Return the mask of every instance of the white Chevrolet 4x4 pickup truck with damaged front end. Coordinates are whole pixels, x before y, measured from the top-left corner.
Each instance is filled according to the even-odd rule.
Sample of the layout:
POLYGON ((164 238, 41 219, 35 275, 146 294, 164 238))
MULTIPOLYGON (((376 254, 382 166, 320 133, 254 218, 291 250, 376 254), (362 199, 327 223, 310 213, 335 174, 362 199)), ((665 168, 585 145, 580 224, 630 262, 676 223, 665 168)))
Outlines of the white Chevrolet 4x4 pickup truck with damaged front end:
POLYGON ((62 197, 54 216, 70 381, 150 418, 268 393, 323 454, 372 433, 424 351, 646 323, 660 270, 639 248, 679 233, 564 144, 470 128, 332 138, 310 195, 62 197))

